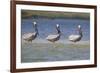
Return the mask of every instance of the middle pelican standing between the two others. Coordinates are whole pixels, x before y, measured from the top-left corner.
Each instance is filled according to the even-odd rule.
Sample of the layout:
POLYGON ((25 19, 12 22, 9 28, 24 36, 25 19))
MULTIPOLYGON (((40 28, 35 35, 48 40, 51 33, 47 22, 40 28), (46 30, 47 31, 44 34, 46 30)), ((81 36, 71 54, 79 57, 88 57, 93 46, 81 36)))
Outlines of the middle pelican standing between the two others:
POLYGON ((56 29, 57 29, 57 34, 51 34, 51 35, 48 35, 46 37, 46 39, 50 42, 55 42, 55 41, 58 41, 60 39, 60 36, 61 36, 61 31, 60 31, 60 26, 59 24, 56 24, 56 29))

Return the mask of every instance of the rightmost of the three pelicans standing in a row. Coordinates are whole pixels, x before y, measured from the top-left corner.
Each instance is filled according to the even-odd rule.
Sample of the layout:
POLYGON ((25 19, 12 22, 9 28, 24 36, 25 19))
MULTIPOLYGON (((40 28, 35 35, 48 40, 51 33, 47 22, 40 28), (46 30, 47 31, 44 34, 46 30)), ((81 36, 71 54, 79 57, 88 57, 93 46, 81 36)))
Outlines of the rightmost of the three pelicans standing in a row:
POLYGON ((81 40, 81 38, 83 37, 83 34, 82 34, 82 30, 81 30, 81 26, 80 25, 78 25, 78 31, 79 31, 78 35, 70 35, 68 37, 69 41, 78 42, 78 41, 81 40))

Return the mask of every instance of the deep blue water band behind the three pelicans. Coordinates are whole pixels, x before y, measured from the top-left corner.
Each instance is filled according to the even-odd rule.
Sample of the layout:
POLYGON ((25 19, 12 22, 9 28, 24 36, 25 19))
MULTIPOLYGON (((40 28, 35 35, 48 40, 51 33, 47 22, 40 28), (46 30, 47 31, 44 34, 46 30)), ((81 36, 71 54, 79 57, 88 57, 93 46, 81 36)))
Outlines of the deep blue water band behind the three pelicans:
POLYGON ((82 19, 22 19, 22 35, 26 32, 34 32, 32 22, 36 21, 38 24, 39 36, 38 38, 44 39, 49 34, 56 32, 56 24, 60 24, 60 30, 62 32, 61 39, 66 39, 71 34, 78 34, 77 26, 81 25, 83 31, 82 40, 90 39, 90 21, 82 19))

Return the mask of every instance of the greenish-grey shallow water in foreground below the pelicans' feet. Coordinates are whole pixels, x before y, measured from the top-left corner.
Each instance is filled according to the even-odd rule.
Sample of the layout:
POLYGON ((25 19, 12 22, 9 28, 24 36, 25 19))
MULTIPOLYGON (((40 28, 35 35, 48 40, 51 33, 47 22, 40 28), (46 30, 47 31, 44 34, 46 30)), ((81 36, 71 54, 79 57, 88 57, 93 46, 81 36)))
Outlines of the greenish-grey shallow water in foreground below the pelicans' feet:
POLYGON ((22 63, 88 59, 90 59, 89 43, 22 43, 22 63))

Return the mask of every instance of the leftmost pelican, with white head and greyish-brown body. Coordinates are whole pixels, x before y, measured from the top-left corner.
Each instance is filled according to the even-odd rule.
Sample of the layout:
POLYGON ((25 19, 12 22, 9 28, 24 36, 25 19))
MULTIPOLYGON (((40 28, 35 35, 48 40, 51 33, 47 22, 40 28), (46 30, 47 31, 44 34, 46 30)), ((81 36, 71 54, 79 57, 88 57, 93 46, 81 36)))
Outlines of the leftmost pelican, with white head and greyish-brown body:
POLYGON ((38 33, 38 29, 37 29, 37 23, 36 22, 33 22, 33 25, 34 25, 34 28, 35 28, 35 32, 25 33, 22 36, 22 38, 25 41, 32 42, 32 40, 34 40, 37 37, 37 35, 39 34, 38 33))

